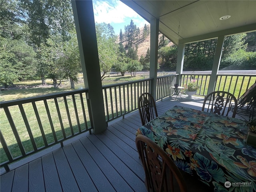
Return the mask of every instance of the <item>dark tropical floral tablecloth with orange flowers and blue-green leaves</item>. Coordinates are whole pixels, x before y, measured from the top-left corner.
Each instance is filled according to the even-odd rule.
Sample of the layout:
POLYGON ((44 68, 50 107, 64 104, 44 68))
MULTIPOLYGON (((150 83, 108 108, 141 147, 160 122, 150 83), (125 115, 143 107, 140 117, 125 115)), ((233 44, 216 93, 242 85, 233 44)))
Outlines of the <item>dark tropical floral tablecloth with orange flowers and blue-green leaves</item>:
POLYGON ((256 191, 256 148, 243 120, 174 106, 138 129, 214 191, 256 191))

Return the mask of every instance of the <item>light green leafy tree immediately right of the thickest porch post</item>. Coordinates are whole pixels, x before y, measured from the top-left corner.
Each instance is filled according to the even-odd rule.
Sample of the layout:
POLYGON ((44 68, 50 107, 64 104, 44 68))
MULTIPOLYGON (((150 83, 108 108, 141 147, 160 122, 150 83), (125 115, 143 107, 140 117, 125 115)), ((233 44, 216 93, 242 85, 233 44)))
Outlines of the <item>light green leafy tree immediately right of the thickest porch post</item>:
POLYGON ((101 79, 103 80, 107 72, 110 72, 112 66, 117 62, 118 46, 116 36, 112 37, 106 23, 96 23, 95 27, 100 70, 103 72, 101 79))

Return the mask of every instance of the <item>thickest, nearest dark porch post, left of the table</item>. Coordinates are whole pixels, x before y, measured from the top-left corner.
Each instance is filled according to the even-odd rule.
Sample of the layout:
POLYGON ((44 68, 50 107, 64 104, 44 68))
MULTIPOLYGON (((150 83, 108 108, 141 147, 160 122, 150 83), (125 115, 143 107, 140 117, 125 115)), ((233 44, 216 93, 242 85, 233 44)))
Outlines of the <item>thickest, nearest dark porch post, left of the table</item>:
POLYGON ((84 82, 90 94, 91 123, 94 133, 98 134, 106 130, 107 126, 92 0, 72 0, 71 2, 76 24, 82 71, 84 73, 84 82))

